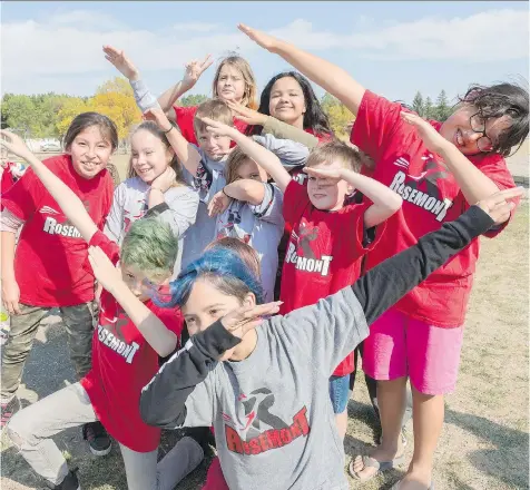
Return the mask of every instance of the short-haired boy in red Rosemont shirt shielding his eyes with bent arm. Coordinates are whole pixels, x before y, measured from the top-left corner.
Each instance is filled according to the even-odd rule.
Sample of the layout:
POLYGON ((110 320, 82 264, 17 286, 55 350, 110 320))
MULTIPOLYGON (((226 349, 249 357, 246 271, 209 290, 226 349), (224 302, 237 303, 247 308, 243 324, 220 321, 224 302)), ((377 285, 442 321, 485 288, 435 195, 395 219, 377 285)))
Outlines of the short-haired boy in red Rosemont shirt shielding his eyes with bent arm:
MULTIPOLYGON (((375 246, 384 229, 375 227, 402 202, 387 187, 355 171, 361 164, 359 153, 341 141, 317 146, 307 159, 308 182, 304 186, 293 179, 276 155, 253 139, 213 119, 203 121, 213 134, 234 139, 284 193, 283 215, 292 232, 282 271, 281 313, 315 304, 355 282, 361 257, 375 246), (355 189, 370 202, 351 204, 349 198, 355 189)), ((353 352, 336 362, 330 396, 338 433, 344 438, 350 374, 355 370, 353 352)))

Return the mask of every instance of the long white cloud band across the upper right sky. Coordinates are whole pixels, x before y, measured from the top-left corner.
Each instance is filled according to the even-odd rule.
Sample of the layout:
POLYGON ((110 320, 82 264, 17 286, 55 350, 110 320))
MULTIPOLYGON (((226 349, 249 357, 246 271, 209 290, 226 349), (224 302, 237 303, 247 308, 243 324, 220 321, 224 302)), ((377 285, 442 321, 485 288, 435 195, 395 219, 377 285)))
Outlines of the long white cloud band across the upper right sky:
POLYGON ((467 18, 423 18, 377 28, 363 18, 361 32, 315 31, 297 19, 272 35, 311 50, 347 49, 356 56, 389 60, 453 59, 498 61, 528 57, 529 13, 490 10, 467 18))

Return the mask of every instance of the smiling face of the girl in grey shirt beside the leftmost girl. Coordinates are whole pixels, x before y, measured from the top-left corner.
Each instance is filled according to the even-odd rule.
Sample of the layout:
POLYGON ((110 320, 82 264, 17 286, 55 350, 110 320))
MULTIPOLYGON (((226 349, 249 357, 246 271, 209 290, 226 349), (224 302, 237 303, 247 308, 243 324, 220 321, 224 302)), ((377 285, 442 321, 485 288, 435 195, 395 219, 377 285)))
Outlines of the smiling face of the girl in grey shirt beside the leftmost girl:
POLYGON ((130 163, 136 175, 147 184, 161 175, 170 164, 174 154, 153 133, 140 129, 130 139, 130 163))

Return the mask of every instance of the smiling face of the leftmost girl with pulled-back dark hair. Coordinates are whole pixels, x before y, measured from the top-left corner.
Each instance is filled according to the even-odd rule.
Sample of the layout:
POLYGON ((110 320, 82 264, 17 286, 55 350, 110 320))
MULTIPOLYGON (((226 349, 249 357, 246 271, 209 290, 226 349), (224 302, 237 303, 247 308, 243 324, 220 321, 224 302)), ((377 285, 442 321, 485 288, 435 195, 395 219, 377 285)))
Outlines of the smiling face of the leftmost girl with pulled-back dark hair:
POLYGON ((112 145, 104 137, 98 126, 89 126, 76 136, 67 154, 76 173, 86 179, 96 177, 108 164, 112 145))

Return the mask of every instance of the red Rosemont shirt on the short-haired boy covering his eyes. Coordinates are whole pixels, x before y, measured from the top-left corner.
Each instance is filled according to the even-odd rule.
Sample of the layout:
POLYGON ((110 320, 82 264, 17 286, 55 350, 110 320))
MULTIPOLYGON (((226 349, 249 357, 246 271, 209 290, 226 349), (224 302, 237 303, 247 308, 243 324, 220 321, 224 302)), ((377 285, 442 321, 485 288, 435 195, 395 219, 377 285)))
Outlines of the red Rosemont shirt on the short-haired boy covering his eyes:
MULTIPOLYGON (((375 239, 365 246, 364 212, 370 205, 321 210, 311 204, 305 186, 289 183, 283 208, 292 232, 282 271, 282 315, 315 304, 359 278, 362 256, 375 246, 384 229, 384 224, 377 226, 375 239)), ((353 371, 352 352, 333 374, 344 376, 353 371)))

